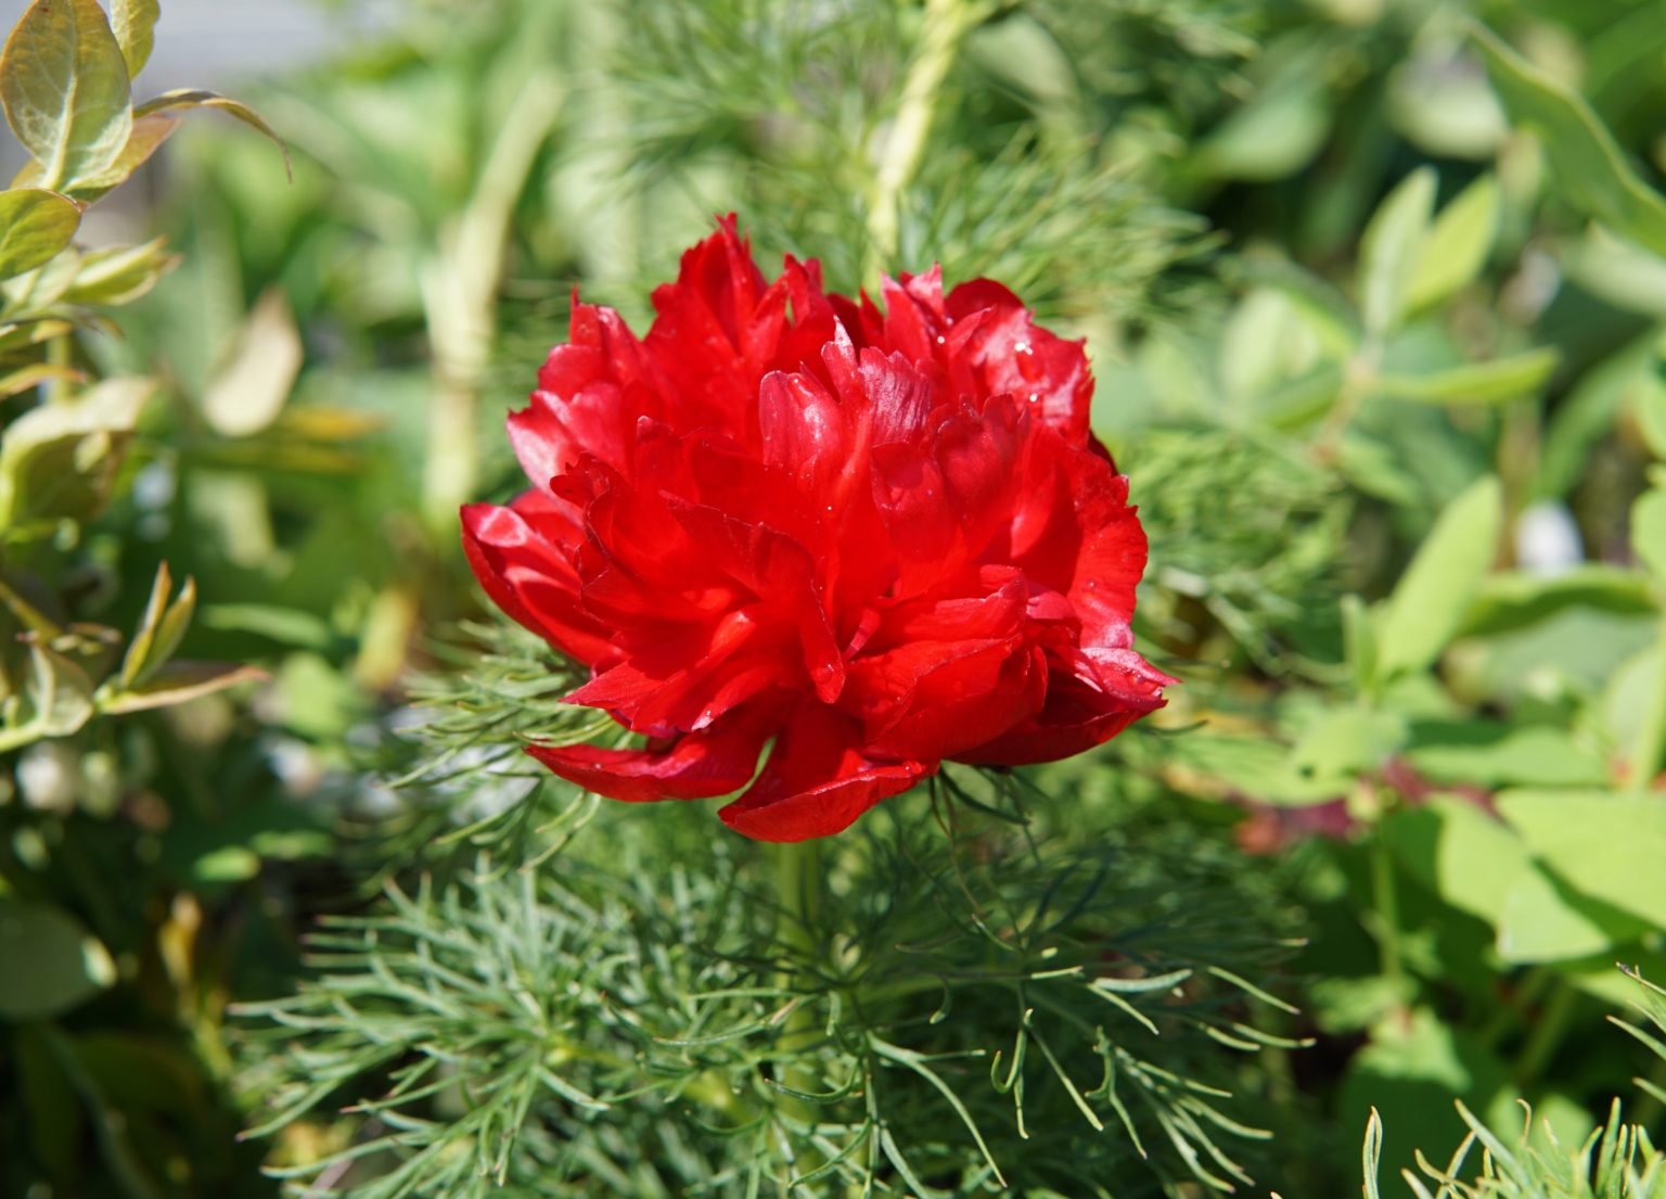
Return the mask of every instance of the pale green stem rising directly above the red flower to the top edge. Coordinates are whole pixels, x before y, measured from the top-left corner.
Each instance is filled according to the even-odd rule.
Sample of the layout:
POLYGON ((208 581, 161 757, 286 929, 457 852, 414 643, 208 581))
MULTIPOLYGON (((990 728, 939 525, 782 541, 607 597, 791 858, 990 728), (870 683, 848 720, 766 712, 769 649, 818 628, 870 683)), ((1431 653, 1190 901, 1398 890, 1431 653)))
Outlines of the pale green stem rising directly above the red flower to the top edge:
POLYGON ((868 265, 866 277, 876 280, 880 272, 896 260, 901 248, 903 192, 913 182, 925 158, 926 137, 936 117, 936 102, 943 93, 961 42, 981 18, 983 7, 970 0, 926 0, 925 27, 920 30, 920 48, 908 65, 903 80, 903 98, 885 138, 885 153, 873 177, 868 203, 868 265))

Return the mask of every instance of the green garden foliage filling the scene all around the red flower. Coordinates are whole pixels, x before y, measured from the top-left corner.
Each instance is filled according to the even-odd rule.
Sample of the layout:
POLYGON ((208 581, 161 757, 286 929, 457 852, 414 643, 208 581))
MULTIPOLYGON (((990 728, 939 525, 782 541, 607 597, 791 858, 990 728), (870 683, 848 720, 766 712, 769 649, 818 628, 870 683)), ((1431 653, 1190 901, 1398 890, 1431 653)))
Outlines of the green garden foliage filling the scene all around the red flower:
POLYGON ((1591 1194, 1611 1126, 1661 1194, 1604 1016, 1666 979, 1663 67, 1658 0, 403 0, 240 87, 292 180, 207 118, 80 248, 7 192, 0 1191, 1334 1194, 1374 1107, 1388 1192, 1473 1137, 1478 1194, 1591 1194), (97 240, 145 188, 165 243, 97 240), (813 916, 520 764, 588 729, 456 549, 573 287, 640 330, 728 210, 1088 337, 1186 680, 893 800, 813 916), (173 649, 242 669, 135 702, 173 649), (1100 1012, 1095 954, 1176 989, 1100 1012))

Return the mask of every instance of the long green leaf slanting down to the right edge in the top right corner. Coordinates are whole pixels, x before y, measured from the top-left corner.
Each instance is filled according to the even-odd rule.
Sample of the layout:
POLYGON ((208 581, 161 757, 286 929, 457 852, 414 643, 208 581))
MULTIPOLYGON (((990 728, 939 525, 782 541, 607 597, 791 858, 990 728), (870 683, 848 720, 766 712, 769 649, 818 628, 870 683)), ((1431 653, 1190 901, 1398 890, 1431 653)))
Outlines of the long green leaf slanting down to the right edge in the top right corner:
POLYGON ((1471 37, 1511 120, 1544 142, 1556 190, 1616 233, 1666 255, 1666 200, 1638 178, 1591 107, 1493 32, 1474 27, 1471 37))

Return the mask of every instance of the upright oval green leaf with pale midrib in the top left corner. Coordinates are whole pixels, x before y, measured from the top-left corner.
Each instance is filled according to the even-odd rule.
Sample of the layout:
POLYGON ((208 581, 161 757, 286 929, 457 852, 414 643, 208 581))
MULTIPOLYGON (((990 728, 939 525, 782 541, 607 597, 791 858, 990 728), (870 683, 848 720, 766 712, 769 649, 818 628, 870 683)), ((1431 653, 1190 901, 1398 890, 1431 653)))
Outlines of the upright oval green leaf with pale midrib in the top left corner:
POLYGON ((5 117, 53 190, 117 160, 133 130, 122 47, 95 0, 35 0, 0 57, 5 117))

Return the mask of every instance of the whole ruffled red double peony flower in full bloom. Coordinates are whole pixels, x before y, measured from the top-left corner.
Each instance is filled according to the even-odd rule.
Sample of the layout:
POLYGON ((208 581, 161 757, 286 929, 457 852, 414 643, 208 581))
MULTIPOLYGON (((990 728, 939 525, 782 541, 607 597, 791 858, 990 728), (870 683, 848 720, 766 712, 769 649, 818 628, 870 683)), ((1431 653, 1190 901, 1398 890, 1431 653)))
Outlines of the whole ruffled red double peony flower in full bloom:
POLYGON ((791 257, 766 282, 733 217, 645 339, 575 295, 508 419, 533 489, 463 509, 491 599, 590 667, 568 700, 648 739, 530 747, 558 775, 626 800, 745 787, 730 827, 803 840, 943 759, 1066 757, 1163 705, 1081 342, 986 278, 881 298, 791 257))

